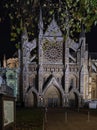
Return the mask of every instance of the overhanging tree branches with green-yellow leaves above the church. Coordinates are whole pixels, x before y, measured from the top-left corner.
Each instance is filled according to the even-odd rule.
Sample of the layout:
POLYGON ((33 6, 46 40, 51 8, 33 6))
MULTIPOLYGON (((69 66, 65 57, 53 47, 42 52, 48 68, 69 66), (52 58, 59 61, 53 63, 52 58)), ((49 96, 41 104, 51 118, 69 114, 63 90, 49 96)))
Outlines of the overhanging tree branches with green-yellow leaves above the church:
POLYGON ((29 38, 37 37, 40 5, 44 31, 53 14, 63 32, 67 33, 65 28, 69 26, 71 36, 81 31, 81 25, 84 25, 87 32, 97 24, 97 0, 1 0, 5 10, 1 21, 6 16, 10 17, 12 41, 20 38, 25 26, 29 38))

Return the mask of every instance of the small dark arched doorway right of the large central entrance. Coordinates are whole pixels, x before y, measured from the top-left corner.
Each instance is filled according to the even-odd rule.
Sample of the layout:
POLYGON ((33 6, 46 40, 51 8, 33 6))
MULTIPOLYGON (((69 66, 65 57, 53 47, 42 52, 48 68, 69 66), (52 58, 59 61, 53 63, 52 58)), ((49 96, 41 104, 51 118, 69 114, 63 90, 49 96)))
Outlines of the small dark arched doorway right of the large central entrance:
POLYGON ((68 99, 69 99, 69 106, 71 108, 78 107, 78 95, 75 92, 70 92, 68 99))

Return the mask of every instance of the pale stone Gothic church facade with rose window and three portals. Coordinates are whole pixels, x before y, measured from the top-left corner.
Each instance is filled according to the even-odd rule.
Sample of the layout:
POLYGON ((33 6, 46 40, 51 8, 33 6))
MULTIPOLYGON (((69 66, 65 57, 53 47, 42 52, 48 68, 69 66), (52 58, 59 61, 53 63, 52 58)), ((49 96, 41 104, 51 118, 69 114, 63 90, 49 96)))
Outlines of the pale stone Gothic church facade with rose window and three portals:
POLYGON ((89 55, 85 33, 76 43, 69 35, 64 40, 54 17, 45 32, 43 26, 40 11, 38 39, 29 42, 26 30, 22 35, 25 106, 81 107, 92 99, 92 75, 97 77, 97 60, 89 55))

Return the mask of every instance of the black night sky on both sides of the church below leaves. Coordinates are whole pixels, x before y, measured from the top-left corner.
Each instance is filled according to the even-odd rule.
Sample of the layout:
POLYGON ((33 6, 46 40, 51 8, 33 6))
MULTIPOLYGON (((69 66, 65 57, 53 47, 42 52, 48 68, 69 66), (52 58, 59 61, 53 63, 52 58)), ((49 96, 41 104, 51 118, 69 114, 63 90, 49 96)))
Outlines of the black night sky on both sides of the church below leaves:
MULTIPOLYGON (((8 20, 0 23, 0 61, 2 60, 4 54, 6 54, 6 58, 10 58, 16 51, 15 43, 10 42, 9 26, 8 20)), ((97 27, 93 27, 86 37, 89 51, 97 52, 97 27)))

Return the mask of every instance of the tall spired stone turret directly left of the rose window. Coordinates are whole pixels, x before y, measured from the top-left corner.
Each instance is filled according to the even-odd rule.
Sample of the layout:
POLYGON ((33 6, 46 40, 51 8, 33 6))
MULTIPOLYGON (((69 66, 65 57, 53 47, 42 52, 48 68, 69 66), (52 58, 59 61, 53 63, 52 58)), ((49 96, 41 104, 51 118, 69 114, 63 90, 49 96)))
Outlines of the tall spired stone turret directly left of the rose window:
POLYGON ((43 48, 42 48, 42 38, 43 38, 43 19, 42 19, 42 9, 40 7, 40 17, 39 17, 39 37, 38 37, 38 62, 39 62, 39 73, 38 73, 38 89, 39 89, 39 98, 38 98, 38 106, 41 106, 41 98, 42 98, 42 86, 43 86, 43 48))

